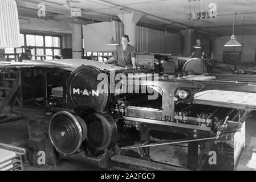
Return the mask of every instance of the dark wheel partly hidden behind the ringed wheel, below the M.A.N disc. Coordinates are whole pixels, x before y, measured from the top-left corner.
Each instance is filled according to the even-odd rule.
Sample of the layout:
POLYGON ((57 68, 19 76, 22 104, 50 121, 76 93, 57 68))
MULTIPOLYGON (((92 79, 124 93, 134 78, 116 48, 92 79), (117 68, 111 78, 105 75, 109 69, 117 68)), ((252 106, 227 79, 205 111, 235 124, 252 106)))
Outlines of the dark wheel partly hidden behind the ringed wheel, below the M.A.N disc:
POLYGON ((88 114, 84 121, 88 127, 86 138, 87 146, 96 151, 113 147, 117 137, 117 126, 115 120, 109 114, 88 114))

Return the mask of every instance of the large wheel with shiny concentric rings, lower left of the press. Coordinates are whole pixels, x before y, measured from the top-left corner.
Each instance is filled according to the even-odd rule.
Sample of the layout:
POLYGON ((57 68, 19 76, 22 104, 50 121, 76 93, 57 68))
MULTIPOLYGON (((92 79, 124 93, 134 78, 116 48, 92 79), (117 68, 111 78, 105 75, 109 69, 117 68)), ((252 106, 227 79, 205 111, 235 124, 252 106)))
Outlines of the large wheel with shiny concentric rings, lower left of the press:
POLYGON ((59 153, 74 154, 87 137, 87 126, 79 116, 59 111, 51 118, 49 135, 59 153))

